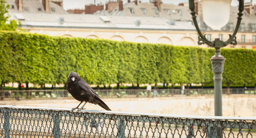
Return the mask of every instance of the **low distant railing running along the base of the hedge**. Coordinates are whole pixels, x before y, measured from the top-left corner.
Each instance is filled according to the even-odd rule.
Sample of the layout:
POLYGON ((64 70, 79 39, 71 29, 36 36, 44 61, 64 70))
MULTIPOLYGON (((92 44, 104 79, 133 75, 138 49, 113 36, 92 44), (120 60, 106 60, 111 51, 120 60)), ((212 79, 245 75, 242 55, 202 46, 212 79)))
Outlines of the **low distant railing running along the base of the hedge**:
MULTIPOLYGON (((133 97, 154 97, 154 90, 148 92, 146 89, 104 89, 95 90, 99 97, 104 98, 133 98, 133 97)), ((214 89, 185 89, 186 96, 213 95, 214 89)), ((223 89, 223 94, 252 94, 256 95, 254 88, 229 88, 223 89)), ((181 89, 157 89, 156 97, 170 97, 181 95, 181 89)), ((67 90, 0 90, 0 98, 7 100, 27 99, 56 99, 71 98, 67 90)))

